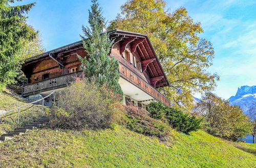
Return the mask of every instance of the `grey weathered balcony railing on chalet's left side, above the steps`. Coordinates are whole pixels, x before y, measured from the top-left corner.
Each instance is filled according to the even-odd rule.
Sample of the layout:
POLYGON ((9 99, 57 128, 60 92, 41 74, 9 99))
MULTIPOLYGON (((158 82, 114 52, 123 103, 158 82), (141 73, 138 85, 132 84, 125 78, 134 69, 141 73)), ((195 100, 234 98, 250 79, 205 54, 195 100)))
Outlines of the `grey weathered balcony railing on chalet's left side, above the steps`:
POLYGON ((39 80, 34 83, 29 83, 24 86, 23 96, 32 95, 33 93, 41 93, 50 90, 66 87, 71 81, 74 81, 75 76, 80 76, 82 71, 77 71, 45 80, 39 80))

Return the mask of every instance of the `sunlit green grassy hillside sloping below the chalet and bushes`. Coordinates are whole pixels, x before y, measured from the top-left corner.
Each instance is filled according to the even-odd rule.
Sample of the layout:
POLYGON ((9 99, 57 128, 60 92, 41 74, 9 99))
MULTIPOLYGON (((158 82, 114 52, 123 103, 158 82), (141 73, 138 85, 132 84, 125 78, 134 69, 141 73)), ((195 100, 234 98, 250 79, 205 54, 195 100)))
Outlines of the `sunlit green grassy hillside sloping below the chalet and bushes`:
MULTIPOLYGON (((5 96, 1 99, 1 109, 13 104, 12 101, 24 103, 11 93, 1 96, 5 96)), ((190 135, 172 130, 169 139, 160 142, 156 137, 122 126, 98 131, 45 128, 0 144, 1 167, 253 167, 255 164, 255 144, 223 141, 202 130, 190 135)))

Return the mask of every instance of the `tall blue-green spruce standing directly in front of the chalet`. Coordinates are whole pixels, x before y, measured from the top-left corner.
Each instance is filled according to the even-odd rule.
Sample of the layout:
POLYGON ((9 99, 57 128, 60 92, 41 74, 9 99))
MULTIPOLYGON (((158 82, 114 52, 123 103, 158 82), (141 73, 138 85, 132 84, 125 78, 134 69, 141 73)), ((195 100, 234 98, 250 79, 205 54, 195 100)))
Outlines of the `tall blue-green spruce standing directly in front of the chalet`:
POLYGON ((110 40, 108 31, 103 31, 106 22, 102 16, 102 9, 97 0, 92 0, 92 3, 89 10, 90 27, 82 26, 84 36, 81 36, 89 59, 78 56, 82 63, 81 68, 89 79, 93 78, 99 85, 106 85, 114 93, 122 95, 118 83, 118 62, 114 57, 109 56, 113 42, 110 40))

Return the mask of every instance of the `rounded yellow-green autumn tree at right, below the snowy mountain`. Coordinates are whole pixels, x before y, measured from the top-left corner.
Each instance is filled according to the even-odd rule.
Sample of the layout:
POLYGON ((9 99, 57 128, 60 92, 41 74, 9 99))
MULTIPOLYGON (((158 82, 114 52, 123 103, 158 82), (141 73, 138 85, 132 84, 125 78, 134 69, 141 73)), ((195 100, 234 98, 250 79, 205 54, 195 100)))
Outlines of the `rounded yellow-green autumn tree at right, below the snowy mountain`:
POLYGON ((243 110, 213 93, 205 93, 194 110, 204 117, 205 129, 210 134, 236 141, 251 133, 252 125, 243 110))

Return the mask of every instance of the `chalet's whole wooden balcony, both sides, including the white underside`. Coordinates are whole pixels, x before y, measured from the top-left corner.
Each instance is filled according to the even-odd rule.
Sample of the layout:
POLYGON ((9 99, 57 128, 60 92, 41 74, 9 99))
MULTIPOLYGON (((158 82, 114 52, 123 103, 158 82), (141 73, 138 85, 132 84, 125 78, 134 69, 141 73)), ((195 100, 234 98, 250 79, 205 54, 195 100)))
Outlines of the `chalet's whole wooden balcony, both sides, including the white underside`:
MULTIPOLYGON (((46 94, 50 93, 51 90, 61 90, 61 88, 67 87, 67 85, 74 81, 74 76, 80 76, 82 71, 77 71, 74 73, 69 73, 45 80, 40 80, 34 83, 29 83, 25 85, 23 90, 23 96, 33 95, 34 93, 46 94)), ((154 87, 152 87, 148 82, 143 80, 141 77, 136 75, 132 70, 124 66, 119 62, 119 74, 122 79, 119 82, 125 82, 125 85, 121 85, 122 90, 125 93, 131 93, 134 95, 140 94, 137 97, 138 101, 145 102, 152 99, 156 99, 165 105, 169 105, 169 100, 158 92, 154 87), (125 79, 125 80, 124 80, 125 79)))

